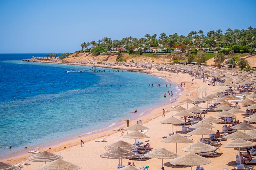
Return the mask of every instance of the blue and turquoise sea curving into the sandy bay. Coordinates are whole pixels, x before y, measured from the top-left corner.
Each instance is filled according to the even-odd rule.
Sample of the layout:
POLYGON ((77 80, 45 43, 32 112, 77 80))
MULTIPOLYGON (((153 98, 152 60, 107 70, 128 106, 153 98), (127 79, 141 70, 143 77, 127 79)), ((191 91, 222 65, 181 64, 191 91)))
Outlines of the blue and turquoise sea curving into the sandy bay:
POLYGON ((46 54, 0 54, 0 157, 137 117, 169 103, 168 90, 177 92, 146 74, 66 73, 89 67, 22 61, 32 56, 46 54))

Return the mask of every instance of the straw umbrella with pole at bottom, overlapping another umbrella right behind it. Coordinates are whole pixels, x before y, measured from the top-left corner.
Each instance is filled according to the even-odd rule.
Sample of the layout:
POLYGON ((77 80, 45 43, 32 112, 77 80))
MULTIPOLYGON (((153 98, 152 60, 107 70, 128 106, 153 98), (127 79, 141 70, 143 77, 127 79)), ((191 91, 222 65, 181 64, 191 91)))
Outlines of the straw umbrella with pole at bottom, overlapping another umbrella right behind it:
POLYGON ((118 159, 118 165, 120 168, 120 165, 122 164, 122 158, 131 158, 131 157, 135 157, 136 155, 137 155, 136 153, 131 152, 129 150, 117 148, 100 155, 100 157, 108 158, 108 159, 118 159), (120 164, 120 159, 121 159, 121 164, 120 164))

